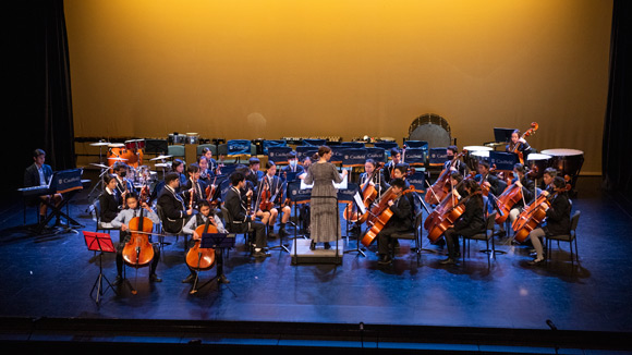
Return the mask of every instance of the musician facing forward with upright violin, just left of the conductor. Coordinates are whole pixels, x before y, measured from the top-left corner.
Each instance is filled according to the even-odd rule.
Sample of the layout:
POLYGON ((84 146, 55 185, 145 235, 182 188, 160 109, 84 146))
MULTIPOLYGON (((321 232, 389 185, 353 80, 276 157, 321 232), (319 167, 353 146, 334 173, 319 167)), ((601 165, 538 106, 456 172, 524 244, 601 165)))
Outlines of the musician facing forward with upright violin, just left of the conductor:
MULTIPOLYGON (((268 161, 266 163, 266 174, 259 181, 259 186, 257 188, 258 196, 257 200, 259 201, 258 206, 255 206, 257 209, 257 217, 262 218, 262 222, 268 227, 268 236, 276 236, 275 235, 275 223, 277 222, 277 217, 279 216, 279 208, 284 203, 285 191, 283 191, 283 182, 281 178, 276 175, 277 173, 277 164, 274 161, 268 161), (267 206, 264 208, 263 201, 266 200, 264 196, 264 192, 269 195, 268 203, 271 203, 271 208, 268 209, 267 206), (268 212, 269 216, 265 213, 268 212)), ((279 228, 279 234, 287 235, 288 232, 285 231, 285 223, 290 220, 291 209, 290 206, 284 205, 281 208, 281 225, 279 228)))

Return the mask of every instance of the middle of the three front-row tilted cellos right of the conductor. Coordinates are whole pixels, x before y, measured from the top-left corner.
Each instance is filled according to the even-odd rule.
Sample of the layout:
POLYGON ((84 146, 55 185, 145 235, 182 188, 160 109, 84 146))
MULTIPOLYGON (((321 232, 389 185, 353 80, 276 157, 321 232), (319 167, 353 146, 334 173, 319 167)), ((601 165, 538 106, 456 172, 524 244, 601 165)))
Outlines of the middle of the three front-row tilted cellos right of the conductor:
POLYGON ((457 219, 463 215, 465 211, 465 206, 463 206, 463 203, 466 200, 465 198, 469 198, 476 193, 481 193, 476 192, 466 196, 465 198, 461 198, 459 194, 455 193, 455 191, 458 191, 459 187, 465 183, 465 181, 472 179, 474 179, 474 172, 461 180, 457 186, 454 186, 452 191, 441 200, 441 203, 435 207, 428 217, 426 217, 426 220, 424 221, 424 229, 428 231, 428 238, 430 242, 436 242, 441 235, 443 235, 443 232, 446 232, 448 228, 452 227, 454 221, 457 221, 457 219))

